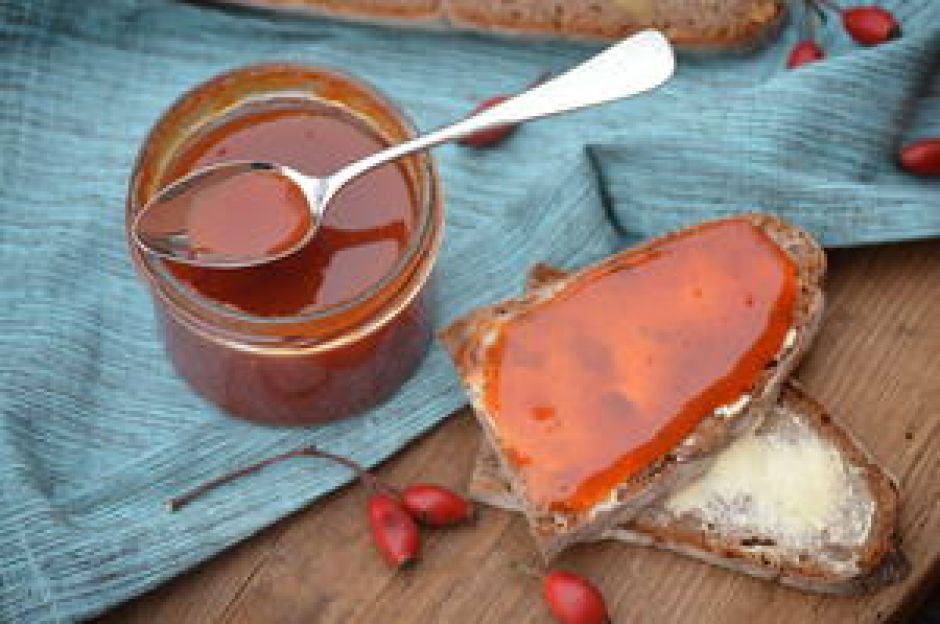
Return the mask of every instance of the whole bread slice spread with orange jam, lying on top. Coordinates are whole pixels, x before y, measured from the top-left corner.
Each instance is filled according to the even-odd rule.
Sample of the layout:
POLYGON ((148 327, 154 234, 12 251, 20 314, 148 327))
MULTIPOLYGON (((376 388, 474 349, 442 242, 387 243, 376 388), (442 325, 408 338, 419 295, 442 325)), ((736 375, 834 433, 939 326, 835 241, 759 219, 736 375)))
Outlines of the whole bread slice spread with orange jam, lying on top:
POLYGON ((824 267, 779 219, 722 219, 443 333, 546 558, 629 521, 759 423, 815 335, 824 267))

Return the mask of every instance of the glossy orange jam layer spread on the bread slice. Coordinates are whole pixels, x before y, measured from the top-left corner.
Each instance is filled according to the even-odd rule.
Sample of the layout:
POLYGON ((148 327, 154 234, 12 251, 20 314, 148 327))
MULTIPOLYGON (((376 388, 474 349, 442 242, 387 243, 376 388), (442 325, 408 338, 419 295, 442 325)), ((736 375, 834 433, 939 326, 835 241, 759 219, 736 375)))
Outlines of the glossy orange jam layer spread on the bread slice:
POLYGON ((750 391, 792 325, 793 262, 743 220, 601 265, 506 323, 484 400, 529 497, 579 512, 750 391))

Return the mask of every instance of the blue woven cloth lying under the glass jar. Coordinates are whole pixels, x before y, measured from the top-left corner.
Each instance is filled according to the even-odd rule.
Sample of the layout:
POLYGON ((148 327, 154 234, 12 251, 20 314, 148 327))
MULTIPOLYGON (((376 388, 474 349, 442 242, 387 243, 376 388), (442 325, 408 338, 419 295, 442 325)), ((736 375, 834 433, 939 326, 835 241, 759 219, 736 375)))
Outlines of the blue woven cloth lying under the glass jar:
MULTIPOLYGON (((899 141, 940 136, 940 3, 884 4, 899 41, 862 49, 830 22, 832 58, 787 72, 789 27, 499 149, 439 149, 438 322, 518 292, 538 260, 581 265, 718 214, 776 212, 828 245, 940 234, 937 180, 893 163, 899 141)), ((431 128, 591 50, 158 0, 0 2, 0 620, 98 613, 350 475, 290 462, 163 511, 207 477, 304 443, 372 465, 464 404, 440 349, 384 406, 302 430, 225 418, 174 375, 122 220, 140 141, 181 91, 262 60, 331 65, 431 128)))

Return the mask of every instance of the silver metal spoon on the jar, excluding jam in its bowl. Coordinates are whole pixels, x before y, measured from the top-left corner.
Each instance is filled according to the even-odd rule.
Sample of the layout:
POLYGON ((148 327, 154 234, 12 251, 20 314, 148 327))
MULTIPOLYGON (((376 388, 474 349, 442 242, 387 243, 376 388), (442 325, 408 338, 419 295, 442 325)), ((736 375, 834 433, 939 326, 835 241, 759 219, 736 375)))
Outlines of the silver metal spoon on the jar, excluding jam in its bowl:
POLYGON ((133 238, 145 251, 184 264, 242 268, 271 262, 305 245, 322 223, 330 199, 367 171, 478 132, 627 98, 659 86, 672 76, 674 70, 675 59, 669 42, 662 33, 647 30, 497 106, 382 150, 325 178, 307 176, 284 165, 264 162, 219 163, 201 168, 167 186, 144 206, 133 223, 133 238), (210 185, 258 170, 283 176, 302 191, 311 216, 306 235, 293 246, 258 257, 219 254, 204 257, 198 253, 187 226, 190 211, 197 204, 193 199, 210 185))

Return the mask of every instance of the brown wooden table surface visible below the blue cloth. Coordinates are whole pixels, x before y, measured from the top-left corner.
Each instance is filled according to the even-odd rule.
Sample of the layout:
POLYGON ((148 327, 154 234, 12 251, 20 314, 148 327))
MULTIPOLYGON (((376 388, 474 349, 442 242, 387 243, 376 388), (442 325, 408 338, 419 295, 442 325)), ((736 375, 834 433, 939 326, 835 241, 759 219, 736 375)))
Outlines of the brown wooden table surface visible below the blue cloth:
MULTIPOLYGON (((829 307, 798 376, 901 485, 913 571, 856 598, 818 597, 664 552, 603 543, 558 566, 592 578, 616 622, 880 622, 904 619, 940 570, 940 241, 832 252, 829 307)), ((479 432, 462 412, 381 470, 463 487, 479 432)), ((485 509, 475 526, 427 535, 424 558, 390 572, 373 552, 365 494, 350 487, 284 519, 100 624, 141 622, 549 622, 523 521, 485 509)))

